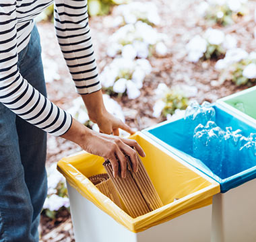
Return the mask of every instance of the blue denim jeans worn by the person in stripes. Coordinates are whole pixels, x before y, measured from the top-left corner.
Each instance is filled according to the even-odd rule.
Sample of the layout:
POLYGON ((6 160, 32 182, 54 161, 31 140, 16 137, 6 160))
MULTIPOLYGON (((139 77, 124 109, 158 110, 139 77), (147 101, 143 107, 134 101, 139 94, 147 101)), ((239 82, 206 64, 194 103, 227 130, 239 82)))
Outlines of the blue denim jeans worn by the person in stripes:
MULTIPOLYGON (((18 54, 21 75, 46 96, 36 27, 18 54)), ((0 103, 0 242, 38 241, 47 194, 46 133, 0 103)))

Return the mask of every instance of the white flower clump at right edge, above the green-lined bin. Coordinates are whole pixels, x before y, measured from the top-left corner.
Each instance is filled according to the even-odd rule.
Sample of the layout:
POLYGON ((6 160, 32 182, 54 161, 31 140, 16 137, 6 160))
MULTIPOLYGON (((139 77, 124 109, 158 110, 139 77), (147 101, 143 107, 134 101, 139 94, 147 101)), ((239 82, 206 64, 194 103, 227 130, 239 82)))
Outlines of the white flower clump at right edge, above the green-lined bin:
POLYGON ((241 48, 228 50, 223 59, 215 65, 221 71, 219 81, 231 80, 236 85, 256 81, 256 52, 247 53, 241 48))

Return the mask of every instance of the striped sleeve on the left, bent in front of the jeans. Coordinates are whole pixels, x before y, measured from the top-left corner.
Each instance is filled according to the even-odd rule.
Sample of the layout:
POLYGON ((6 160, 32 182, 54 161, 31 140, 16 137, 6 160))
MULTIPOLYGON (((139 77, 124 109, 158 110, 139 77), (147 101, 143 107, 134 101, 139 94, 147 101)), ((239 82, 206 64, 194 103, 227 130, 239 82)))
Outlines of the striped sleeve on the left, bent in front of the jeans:
POLYGON ((70 114, 40 94, 18 69, 16 1, 0 3, 0 102, 38 128, 60 136, 69 130, 70 114))

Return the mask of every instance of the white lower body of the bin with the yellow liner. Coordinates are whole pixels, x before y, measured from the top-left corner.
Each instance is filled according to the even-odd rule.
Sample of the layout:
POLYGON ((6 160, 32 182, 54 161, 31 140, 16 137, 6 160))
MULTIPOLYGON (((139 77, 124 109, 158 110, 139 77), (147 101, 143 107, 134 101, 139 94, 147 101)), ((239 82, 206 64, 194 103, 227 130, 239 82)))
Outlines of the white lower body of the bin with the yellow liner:
POLYGON ((210 242, 212 205, 133 233, 67 183, 75 242, 210 242))

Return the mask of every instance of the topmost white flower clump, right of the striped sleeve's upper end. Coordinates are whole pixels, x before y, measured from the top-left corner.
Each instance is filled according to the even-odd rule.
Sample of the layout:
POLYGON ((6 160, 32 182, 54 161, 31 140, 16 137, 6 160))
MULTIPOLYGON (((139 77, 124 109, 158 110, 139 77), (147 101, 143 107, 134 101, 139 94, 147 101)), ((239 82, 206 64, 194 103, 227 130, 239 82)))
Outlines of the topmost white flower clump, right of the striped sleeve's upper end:
POLYGON ((160 24, 160 16, 154 3, 132 2, 119 5, 115 9, 118 15, 115 19, 115 26, 135 24, 138 21, 145 22, 152 26, 160 24))

